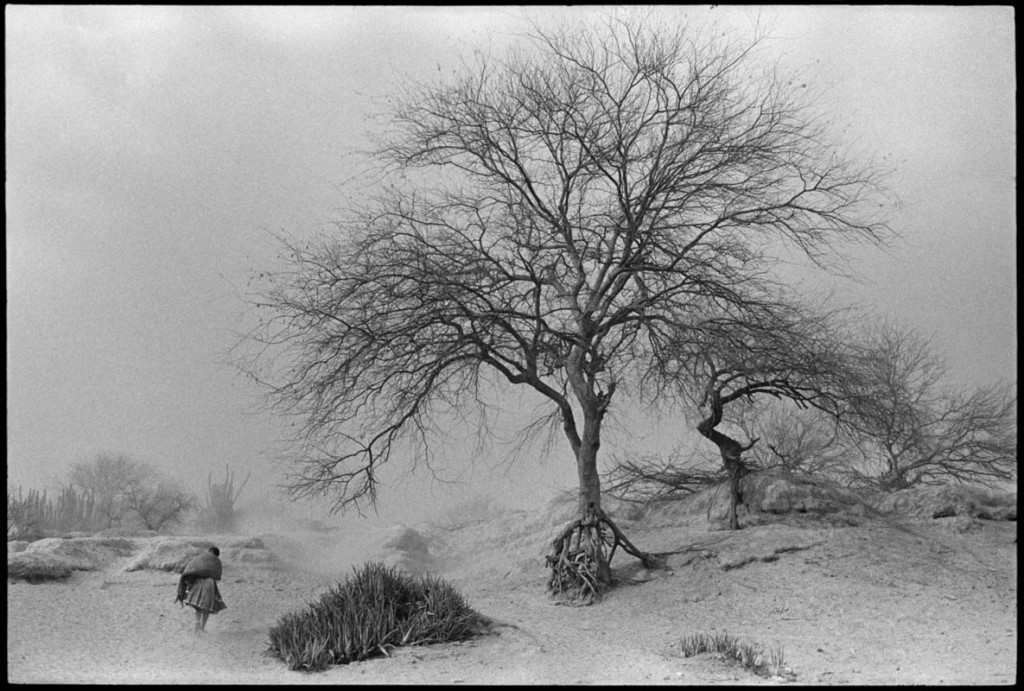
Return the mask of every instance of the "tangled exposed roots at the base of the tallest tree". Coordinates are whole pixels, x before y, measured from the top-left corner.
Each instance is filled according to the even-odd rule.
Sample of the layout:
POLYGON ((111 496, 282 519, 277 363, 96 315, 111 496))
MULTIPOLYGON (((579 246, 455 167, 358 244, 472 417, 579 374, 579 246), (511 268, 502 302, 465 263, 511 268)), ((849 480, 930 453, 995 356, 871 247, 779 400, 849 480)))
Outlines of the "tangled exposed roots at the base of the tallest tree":
POLYGON ((646 568, 656 568, 654 555, 641 552, 600 509, 569 523, 551 543, 547 557, 551 568, 548 591, 560 602, 590 605, 611 585, 611 559, 615 550, 639 559, 646 568))

